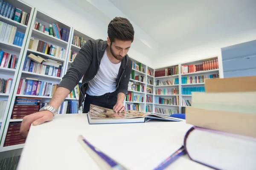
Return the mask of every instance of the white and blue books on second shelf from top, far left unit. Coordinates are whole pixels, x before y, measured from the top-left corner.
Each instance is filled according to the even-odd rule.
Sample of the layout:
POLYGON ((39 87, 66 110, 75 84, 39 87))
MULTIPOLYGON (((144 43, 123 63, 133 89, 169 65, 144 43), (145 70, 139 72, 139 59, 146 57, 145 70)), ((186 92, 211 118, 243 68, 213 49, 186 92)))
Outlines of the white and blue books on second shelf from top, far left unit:
POLYGON ((22 46, 25 34, 17 32, 17 27, 0 21, 0 41, 22 46))

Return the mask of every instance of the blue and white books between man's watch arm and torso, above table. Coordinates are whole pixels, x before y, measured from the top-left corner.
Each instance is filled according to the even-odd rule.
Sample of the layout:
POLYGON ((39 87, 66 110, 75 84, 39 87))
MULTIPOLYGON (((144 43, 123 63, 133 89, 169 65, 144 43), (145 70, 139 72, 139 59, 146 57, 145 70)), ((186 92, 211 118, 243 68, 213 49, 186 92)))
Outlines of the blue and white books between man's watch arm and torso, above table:
POLYGON ((69 100, 62 102, 61 106, 58 109, 58 114, 74 114, 80 113, 78 109, 78 101, 76 100, 69 100))

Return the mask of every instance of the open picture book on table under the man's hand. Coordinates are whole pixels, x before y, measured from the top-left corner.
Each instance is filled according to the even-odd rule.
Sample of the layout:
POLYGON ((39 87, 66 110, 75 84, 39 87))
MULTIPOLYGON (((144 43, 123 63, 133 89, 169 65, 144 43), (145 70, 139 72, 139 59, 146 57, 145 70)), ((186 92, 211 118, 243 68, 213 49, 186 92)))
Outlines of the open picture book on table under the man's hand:
POLYGON ((174 119, 169 116, 143 113, 140 111, 129 110, 126 111, 126 113, 116 113, 112 109, 103 108, 96 105, 90 105, 90 111, 88 113, 89 124, 139 123, 148 122, 151 119, 180 122, 179 119, 174 119))

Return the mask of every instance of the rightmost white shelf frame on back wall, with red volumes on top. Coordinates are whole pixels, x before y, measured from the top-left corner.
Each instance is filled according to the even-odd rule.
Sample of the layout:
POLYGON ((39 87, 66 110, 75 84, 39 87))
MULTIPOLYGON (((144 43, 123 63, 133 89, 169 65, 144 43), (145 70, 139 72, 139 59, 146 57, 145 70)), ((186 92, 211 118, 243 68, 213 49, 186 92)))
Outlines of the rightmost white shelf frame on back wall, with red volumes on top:
MULTIPOLYGON (((203 58, 203 59, 193 60, 193 61, 189 61, 189 62, 180 63, 180 68, 183 65, 201 65, 201 64, 203 64, 203 62, 210 61, 213 59, 218 59, 218 55, 203 58)), ((218 59, 218 61, 220 61, 220 60, 218 59)), ((182 100, 183 99, 192 100, 192 95, 182 94, 182 88, 204 87, 204 82, 195 83, 195 84, 194 83, 193 84, 182 84, 182 78, 183 77, 204 76, 204 75, 209 75, 209 74, 219 74, 219 69, 213 69, 213 70, 207 70, 207 71, 197 71, 197 72, 186 73, 186 74, 182 74, 182 71, 180 71, 180 112, 183 112, 184 108, 189 107, 189 106, 183 106, 182 100)))

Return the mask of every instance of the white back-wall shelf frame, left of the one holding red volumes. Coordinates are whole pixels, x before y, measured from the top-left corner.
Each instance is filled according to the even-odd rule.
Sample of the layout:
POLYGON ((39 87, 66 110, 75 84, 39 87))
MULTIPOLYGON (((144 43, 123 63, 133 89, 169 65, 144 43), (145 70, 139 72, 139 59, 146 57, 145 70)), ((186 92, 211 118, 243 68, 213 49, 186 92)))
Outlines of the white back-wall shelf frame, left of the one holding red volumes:
MULTIPOLYGON (((160 71, 160 70, 165 70, 166 68, 173 68, 178 66, 178 73, 180 73, 180 64, 175 64, 175 65, 169 65, 166 67, 161 67, 161 68, 156 68, 154 69, 154 75, 156 75, 156 71, 160 71)), ((179 78, 180 74, 175 74, 175 75, 170 75, 170 76, 162 76, 162 77, 154 77, 154 107, 153 107, 153 112, 155 113, 155 108, 164 108, 164 109, 173 109, 173 110, 177 110, 178 113, 180 113, 180 103, 177 103, 177 105, 164 105, 164 104, 159 104, 156 103, 156 96, 158 97, 162 97, 162 98, 166 98, 166 99, 171 99, 171 98, 179 98, 180 101, 180 78, 179 78), (174 82, 174 79, 178 78, 179 80, 179 84, 172 84, 172 85, 157 85, 156 81, 160 80, 160 81, 167 81, 170 80, 172 83, 174 82), (168 89, 173 89, 176 88, 177 89, 177 94, 168 94, 168 89), (156 94, 156 91, 158 91, 158 89, 166 89, 166 94, 156 94)), ((157 113, 158 114, 158 113, 157 113)))

